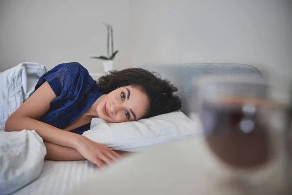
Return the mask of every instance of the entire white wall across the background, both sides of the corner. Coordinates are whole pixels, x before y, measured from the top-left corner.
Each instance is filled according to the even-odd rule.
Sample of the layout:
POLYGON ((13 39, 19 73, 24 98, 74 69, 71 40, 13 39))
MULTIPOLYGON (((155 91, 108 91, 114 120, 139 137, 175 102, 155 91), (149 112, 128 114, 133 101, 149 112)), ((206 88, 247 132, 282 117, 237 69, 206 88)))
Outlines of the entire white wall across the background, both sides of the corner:
POLYGON ((102 72, 113 25, 115 68, 246 63, 292 73, 292 0, 0 0, 0 71, 78 61, 102 72))

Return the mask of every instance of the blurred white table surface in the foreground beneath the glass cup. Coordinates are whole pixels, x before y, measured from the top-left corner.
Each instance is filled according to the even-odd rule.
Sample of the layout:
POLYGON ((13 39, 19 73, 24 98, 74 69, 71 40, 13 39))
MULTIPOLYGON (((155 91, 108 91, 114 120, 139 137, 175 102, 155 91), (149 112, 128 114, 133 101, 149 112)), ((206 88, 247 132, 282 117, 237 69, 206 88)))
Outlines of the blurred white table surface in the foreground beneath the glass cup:
MULTIPOLYGON (((271 190, 282 185, 282 173, 283 164, 277 161, 252 174, 240 174, 274 194, 271 190)), ((252 187, 238 185, 233 176, 234 170, 210 152, 203 138, 186 139, 125 157, 80 184, 73 194, 251 195, 252 187)))

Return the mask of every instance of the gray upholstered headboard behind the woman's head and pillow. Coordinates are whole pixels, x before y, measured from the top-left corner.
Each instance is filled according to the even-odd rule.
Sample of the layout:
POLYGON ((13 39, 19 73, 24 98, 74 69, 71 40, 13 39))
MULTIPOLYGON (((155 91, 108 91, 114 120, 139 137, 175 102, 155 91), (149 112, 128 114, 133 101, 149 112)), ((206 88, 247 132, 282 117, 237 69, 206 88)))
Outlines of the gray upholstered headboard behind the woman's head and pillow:
POLYGON ((188 114, 188 100, 192 94, 192 79, 204 75, 238 75, 262 77, 253 66, 246 64, 146 64, 140 66, 149 71, 158 72, 178 88, 178 96, 182 99, 181 111, 188 114))

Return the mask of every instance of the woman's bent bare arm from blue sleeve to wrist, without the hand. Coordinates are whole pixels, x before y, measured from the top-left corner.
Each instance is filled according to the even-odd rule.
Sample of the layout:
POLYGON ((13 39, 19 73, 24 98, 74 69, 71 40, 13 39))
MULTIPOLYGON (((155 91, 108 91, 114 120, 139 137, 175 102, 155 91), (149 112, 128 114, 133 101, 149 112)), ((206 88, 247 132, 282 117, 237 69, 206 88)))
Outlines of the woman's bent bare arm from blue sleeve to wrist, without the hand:
POLYGON ((44 141, 74 148, 80 135, 37 120, 49 110, 50 102, 55 98, 54 91, 45 82, 7 119, 5 131, 35 130, 44 141))

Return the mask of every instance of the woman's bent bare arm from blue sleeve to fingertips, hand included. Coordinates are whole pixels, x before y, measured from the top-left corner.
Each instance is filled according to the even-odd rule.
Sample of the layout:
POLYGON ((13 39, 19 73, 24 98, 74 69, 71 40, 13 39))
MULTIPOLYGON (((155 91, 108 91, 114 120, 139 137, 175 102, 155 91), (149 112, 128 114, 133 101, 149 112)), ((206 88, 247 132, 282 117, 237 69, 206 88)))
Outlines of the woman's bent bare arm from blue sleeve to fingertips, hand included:
MULTIPOLYGON (((5 131, 21 131, 23 129, 35 130, 45 142, 73 148, 86 159, 98 166, 103 166, 103 162, 110 163, 112 160, 116 160, 120 157, 120 155, 112 151, 110 148, 95 143, 87 137, 64 131, 52 125, 38 121, 37 119, 49 110, 50 102, 55 98, 54 91, 49 83, 45 82, 7 119, 5 123, 5 131)), ((49 147, 47 148, 47 152, 52 155, 55 154, 55 158, 59 159, 57 154, 54 153, 55 149, 56 146, 49 147)), ((71 150, 71 152, 72 151, 73 150, 71 150)), ((71 152, 69 152, 70 154, 68 155, 75 156, 75 153, 73 154, 73 152, 71 152)), ((74 160, 76 159, 74 158, 74 160)))

